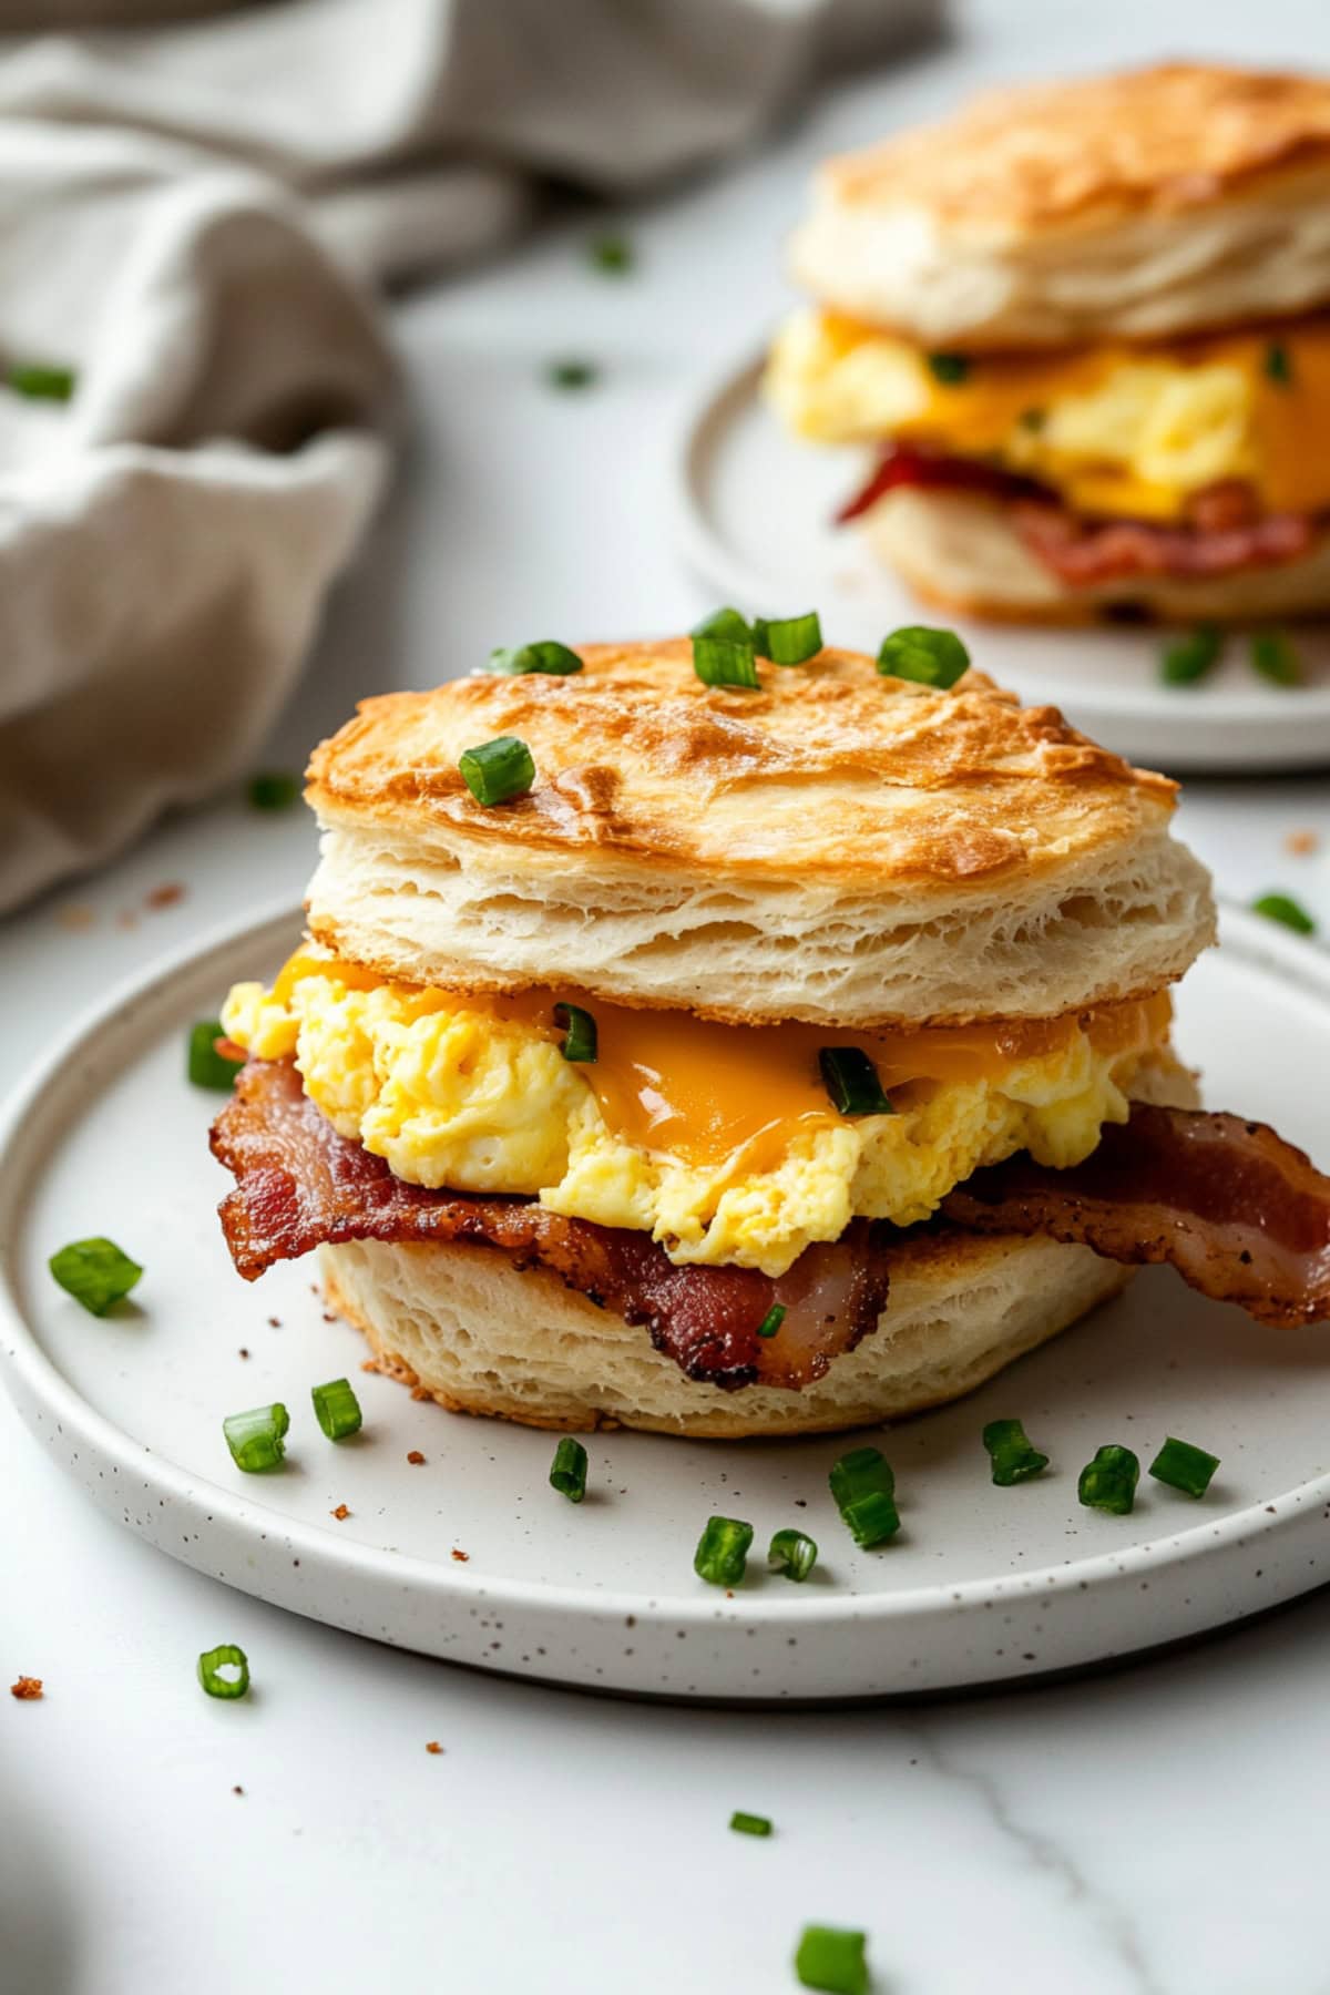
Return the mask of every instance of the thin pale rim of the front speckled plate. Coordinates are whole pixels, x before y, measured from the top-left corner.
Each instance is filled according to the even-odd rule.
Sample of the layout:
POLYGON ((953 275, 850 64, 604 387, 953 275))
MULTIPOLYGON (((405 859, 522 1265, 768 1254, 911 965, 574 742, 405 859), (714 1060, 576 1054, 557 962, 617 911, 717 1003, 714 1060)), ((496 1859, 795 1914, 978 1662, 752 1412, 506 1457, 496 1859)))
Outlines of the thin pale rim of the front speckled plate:
MULTIPOLYGON (((108 1414, 100 1412, 88 1398, 84 1398, 84 1395, 46 1355, 38 1333, 22 1313, 16 1271, 10 1265, 10 1227, 18 1217, 22 1217, 24 1207, 22 1189, 14 1189, 10 1185, 10 1173, 14 1169, 14 1155, 20 1151, 26 1113, 52 1083, 60 1081, 62 1085, 72 1085, 64 1079, 64 1069, 72 1055, 76 1055, 96 1031, 104 1031, 112 1019, 122 1017, 126 1009, 154 996, 162 996, 164 986, 169 986, 177 978, 197 970, 209 956, 231 954, 245 940, 253 940, 255 946, 261 946, 267 940, 275 940, 269 938, 269 932, 283 926, 295 932, 301 924, 303 908, 283 900, 269 906, 259 916, 251 914, 241 922, 211 928, 193 942, 154 958, 138 972, 112 986, 100 1001, 86 1005, 76 1019, 60 1031, 52 1047, 36 1063, 28 1077, 12 1089, 0 1105, 0 1221, 4 1223, 4 1231, 0 1231, 0 1329, 6 1333, 0 1337, 0 1361, 4 1361, 6 1373, 14 1373, 22 1387, 32 1393, 32 1396, 40 1400, 58 1420, 70 1426, 90 1448, 100 1450, 108 1460, 118 1460, 120 1466, 128 1466, 134 1474, 156 1480, 160 1492, 167 1494, 171 1502, 181 1504, 191 1516, 205 1516, 213 1524, 229 1524, 241 1532, 261 1528, 265 1524, 271 1526, 275 1522, 279 1536, 285 1538, 287 1544, 299 1548, 301 1556, 307 1556, 315 1570, 327 1568, 341 1574, 365 1572, 369 1578, 381 1578, 387 1572, 391 1578, 407 1580, 459 1600, 495 1600, 502 1596, 504 1600, 528 1608, 568 1612, 596 1620, 604 1614, 630 1612, 636 1614, 638 1620, 662 1620, 670 1624, 688 1622, 698 1628, 712 1624, 718 1604, 710 1594, 698 1598, 686 1594, 660 1596, 654 1604, 650 1604, 644 1592, 602 1592, 586 1586, 566 1586, 562 1582, 508 1578, 502 1574, 495 1576, 493 1572, 489 1572, 483 1582, 479 1574, 467 1574, 453 1570, 451 1566, 431 1564, 415 1554, 391 1552, 381 1546, 363 1546, 351 1540, 333 1540, 333 1536, 319 1526, 309 1526, 291 1518, 283 1510, 275 1510, 263 1502, 253 1502, 235 1494, 225 1488, 225 1484, 193 1474, 167 1456, 146 1448, 144 1442, 138 1442, 108 1414)), ((1262 974, 1274 976, 1280 982, 1292 982, 1294 986, 1300 986, 1304 994, 1312 994, 1320 999, 1326 1005, 1326 1027, 1330 1031, 1328 952, 1302 938, 1286 936, 1282 930, 1274 928, 1250 910, 1222 900, 1220 946, 1226 946, 1234 956, 1254 964, 1262 974)), ((46 1145, 46 1153, 52 1143, 60 1141, 62 1129, 64 1121, 46 1145)), ((20 1406, 20 1412, 24 1408, 20 1406)), ((656 1438, 664 1442, 672 1436, 656 1438)), ((1288 1490, 1276 1492, 1278 1498, 1288 1498, 1292 1494, 1314 1496, 1316 1502, 1330 1504, 1330 1470, 1308 1482, 1298 1482, 1288 1490)), ((911 1616, 929 1614, 943 1604, 947 1608, 967 1608, 979 1606, 983 1600, 1001 1600, 1017 1592, 1029 1594, 1037 1590, 1053 1594, 1063 1592, 1069 1586, 1095 1586, 1101 1580, 1117 1580, 1125 1572, 1143 1572, 1174 1562, 1182 1564, 1192 1558, 1212 1554, 1224 1548, 1230 1540, 1246 1538, 1250 1542, 1254 1536, 1266 1536, 1268 1532, 1278 1530, 1282 1520, 1282 1510, 1272 1516, 1268 1502, 1270 1496, 1266 1492, 1258 1502, 1228 1514, 1218 1524, 1204 1516, 1198 1518, 1194 1526, 1161 1538, 1151 1538, 1147 1544, 1127 1544, 1115 1550, 1097 1552, 1085 1560, 1075 1560, 1069 1566, 1043 1566, 1009 1578, 971 1578, 959 1582, 943 1580, 883 1594, 845 1590, 830 1598, 816 1600, 786 1596, 764 1600, 760 1594, 754 1594, 752 1598, 744 1598, 744 1614, 764 1622, 855 1622, 863 1628, 871 1622, 909 1620, 911 1616)))

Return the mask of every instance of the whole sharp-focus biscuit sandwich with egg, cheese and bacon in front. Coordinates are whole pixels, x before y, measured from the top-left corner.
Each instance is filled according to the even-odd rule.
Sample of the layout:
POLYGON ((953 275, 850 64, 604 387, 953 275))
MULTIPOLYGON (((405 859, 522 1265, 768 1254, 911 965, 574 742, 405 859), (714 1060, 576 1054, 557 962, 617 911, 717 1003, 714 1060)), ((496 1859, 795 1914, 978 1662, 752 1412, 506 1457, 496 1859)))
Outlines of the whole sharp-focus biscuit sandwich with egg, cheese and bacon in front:
POLYGON ((365 700, 223 1009, 239 1273, 317 1249, 445 1406, 720 1436, 949 1400, 1141 1261, 1330 1309, 1330 1185, 1170 1043, 1174 786, 949 632, 883 660, 726 610, 365 700))

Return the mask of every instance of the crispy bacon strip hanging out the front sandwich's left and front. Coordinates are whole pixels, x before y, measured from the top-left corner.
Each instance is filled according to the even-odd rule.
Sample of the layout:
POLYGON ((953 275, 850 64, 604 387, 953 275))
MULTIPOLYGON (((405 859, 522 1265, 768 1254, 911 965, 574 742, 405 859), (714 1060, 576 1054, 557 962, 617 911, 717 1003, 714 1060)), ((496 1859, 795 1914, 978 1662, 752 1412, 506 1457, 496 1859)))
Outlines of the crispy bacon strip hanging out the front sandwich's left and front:
POLYGON ((289 1061, 241 1069, 211 1147, 235 1175, 221 1227, 245 1281, 323 1241, 475 1241, 644 1325, 680 1371, 726 1391, 798 1391, 822 1379, 833 1357, 875 1329, 887 1299, 885 1229, 867 1221, 772 1279, 746 1267, 674 1267, 646 1233, 562 1219, 534 1199, 407 1185, 337 1135, 289 1061), (784 1303, 786 1319, 776 1337, 758 1337, 774 1303, 784 1303))

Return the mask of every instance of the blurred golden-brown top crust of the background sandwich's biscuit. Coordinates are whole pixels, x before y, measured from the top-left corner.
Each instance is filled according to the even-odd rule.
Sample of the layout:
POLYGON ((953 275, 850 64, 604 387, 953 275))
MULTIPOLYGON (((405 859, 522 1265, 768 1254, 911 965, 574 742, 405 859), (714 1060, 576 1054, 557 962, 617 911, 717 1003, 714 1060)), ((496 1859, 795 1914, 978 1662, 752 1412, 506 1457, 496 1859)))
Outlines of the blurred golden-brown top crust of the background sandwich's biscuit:
POLYGON ((837 201, 925 207, 957 235, 1186 213, 1300 174, 1330 176, 1330 80, 1186 62, 985 92, 824 168, 837 201))

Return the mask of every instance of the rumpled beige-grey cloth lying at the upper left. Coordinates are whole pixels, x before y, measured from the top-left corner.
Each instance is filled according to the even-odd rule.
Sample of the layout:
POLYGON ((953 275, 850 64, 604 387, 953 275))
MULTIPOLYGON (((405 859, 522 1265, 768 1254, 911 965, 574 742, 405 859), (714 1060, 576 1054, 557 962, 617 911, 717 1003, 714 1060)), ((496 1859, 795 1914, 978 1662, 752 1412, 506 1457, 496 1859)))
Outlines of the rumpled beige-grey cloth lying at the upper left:
POLYGON ((255 754, 389 469, 377 283, 546 178, 714 162, 941 6, 0 0, 80 30, 0 40, 0 910, 255 754))

